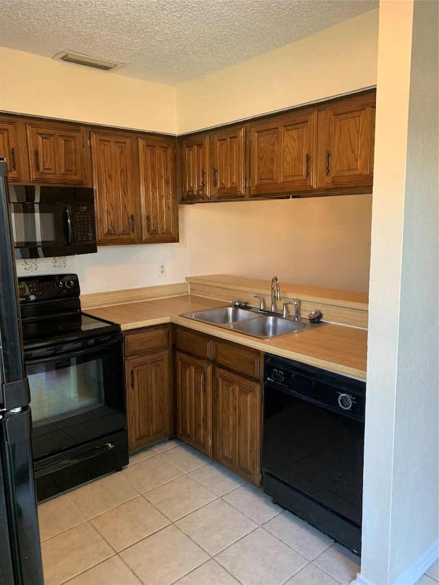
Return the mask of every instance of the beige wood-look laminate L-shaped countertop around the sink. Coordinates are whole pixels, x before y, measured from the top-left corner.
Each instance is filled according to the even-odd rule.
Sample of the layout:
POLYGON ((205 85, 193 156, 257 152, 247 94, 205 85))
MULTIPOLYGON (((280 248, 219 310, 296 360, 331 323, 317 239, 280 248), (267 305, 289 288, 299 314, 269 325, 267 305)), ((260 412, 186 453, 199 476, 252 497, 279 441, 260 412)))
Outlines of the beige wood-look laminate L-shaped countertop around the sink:
POLYGON ((176 323, 265 353, 296 359, 350 377, 366 379, 366 329, 325 323, 316 329, 265 341, 179 316, 180 313, 224 305, 230 303, 201 296, 182 295, 84 309, 84 312, 118 323, 122 331, 161 323, 176 323))

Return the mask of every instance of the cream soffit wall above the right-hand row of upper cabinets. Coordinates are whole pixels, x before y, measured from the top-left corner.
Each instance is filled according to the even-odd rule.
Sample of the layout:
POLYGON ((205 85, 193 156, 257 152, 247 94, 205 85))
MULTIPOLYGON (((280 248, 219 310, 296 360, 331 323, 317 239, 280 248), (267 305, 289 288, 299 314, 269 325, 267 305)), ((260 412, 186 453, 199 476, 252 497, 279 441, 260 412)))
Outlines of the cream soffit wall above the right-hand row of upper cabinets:
POLYGON ((377 82, 378 10, 177 88, 178 134, 377 82))

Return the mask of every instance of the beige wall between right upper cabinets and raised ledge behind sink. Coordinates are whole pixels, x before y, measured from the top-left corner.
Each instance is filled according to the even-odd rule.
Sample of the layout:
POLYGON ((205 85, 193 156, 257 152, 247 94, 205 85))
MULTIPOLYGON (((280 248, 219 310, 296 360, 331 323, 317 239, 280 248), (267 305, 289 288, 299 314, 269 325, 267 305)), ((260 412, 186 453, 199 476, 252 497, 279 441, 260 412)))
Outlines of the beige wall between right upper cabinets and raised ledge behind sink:
POLYGON ((367 292, 371 208, 372 195, 191 206, 191 274, 367 292))

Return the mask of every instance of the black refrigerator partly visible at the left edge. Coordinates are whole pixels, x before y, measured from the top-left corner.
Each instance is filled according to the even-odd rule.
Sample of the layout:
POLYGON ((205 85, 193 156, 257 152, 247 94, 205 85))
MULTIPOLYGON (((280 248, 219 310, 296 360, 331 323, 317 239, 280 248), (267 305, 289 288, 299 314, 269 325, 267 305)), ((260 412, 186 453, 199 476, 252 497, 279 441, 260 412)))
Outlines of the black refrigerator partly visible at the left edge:
POLYGON ((0 585, 43 585, 7 175, 0 158, 0 585))

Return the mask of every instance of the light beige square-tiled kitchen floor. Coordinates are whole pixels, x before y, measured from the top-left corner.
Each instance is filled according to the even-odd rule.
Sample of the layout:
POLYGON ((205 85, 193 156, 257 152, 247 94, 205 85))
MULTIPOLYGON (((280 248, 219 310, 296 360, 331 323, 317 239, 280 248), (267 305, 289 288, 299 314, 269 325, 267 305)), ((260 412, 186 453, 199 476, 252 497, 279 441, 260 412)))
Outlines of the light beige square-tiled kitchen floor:
MULTIPOLYGON (((359 558, 179 441, 38 506, 45 585, 348 585, 359 558)), ((438 585, 438 563, 418 582, 438 585)))

